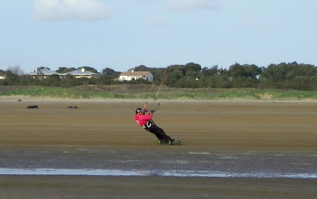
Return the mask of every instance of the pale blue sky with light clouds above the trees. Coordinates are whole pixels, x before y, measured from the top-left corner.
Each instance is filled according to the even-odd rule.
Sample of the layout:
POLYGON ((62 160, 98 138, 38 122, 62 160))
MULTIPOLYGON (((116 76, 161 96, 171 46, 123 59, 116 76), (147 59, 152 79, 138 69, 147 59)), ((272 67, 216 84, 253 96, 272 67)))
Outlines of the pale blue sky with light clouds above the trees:
POLYGON ((317 0, 0 0, 0 69, 317 65, 317 0))

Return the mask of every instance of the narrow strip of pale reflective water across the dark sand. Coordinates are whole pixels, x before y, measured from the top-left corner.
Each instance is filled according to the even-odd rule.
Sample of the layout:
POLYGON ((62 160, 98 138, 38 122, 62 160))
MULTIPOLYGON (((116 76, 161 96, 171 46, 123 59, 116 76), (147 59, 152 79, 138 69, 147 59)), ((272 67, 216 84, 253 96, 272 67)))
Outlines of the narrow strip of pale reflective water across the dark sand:
POLYGON ((208 178, 257 178, 257 179, 315 179, 315 173, 231 173, 218 171, 190 171, 190 170, 122 170, 122 169, 53 169, 53 168, 0 168, 1 175, 20 175, 20 176, 122 176, 122 177, 208 177, 208 178))

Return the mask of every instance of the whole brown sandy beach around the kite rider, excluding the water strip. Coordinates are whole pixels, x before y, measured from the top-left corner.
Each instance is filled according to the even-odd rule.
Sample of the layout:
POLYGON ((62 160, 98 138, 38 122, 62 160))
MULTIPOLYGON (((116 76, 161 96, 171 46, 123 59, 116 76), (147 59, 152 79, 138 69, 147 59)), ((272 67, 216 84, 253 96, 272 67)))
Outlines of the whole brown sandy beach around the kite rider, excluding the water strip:
POLYGON ((157 144, 135 123, 134 110, 144 103, 0 98, 0 168, 160 171, 143 176, 0 175, 2 198, 316 197, 316 102, 149 100, 148 109, 160 103, 154 121, 179 139, 179 146, 157 144), (177 175, 177 169, 184 175, 195 170, 247 177, 162 174, 172 170, 177 175), (305 173, 308 177, 301 176, 305 173))

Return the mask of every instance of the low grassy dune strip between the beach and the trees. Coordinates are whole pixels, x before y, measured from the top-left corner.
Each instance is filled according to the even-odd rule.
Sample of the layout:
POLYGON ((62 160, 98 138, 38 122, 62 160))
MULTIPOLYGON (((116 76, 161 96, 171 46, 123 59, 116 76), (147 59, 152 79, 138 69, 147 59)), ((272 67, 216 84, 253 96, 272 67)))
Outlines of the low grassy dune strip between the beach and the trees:
MULTIPOLYGON (((3 88, 3 87, 2 87, 3 88)), ((5 89, 2 89, 5 90, 5 89)), ((316 100, 315 91, 276 89, 178 89, 151 85, 10 88, 1 96, 68 99, 316 100), (159 91, 159 92, 158 92, 159 91)))

